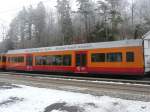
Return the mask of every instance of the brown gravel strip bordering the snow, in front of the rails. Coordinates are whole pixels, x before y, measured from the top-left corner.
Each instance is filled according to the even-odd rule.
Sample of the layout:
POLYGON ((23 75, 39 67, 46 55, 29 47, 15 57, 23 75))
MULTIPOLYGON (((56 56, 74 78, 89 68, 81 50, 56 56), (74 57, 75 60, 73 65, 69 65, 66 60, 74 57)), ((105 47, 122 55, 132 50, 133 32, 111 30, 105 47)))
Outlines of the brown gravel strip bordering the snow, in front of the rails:
MULTIPOLYGON (((32 78, 32 77, 23 77, 23 76, 10 76, 10 75, 0 75, 0 82, 10 82, 13 84, 21 84, 21 85, 28 85, 28 86, 35 86, 35 87, 42 87, 42 88, 50 88, 50 89, 58 89, 58 90, 65 90, 65 91, 72 91, 72 92, 80 92, 91 94, 95 96, 110 96, 115 98, 122 98, 127 100, 138 100, 138 101, 146 101, 150 102, 150 93, 149 92, 136 92, 136 91, 124 91, 120 90, 119 88, 115 89, 107 89, 104 87, 97 88, 97 87, 90 87, 85 86, 85 82, 74 81, 74 83, 69 83, 71 81, 61 81, 61 80, 53 80, 53 79, 42 79, 42 78, 32 78), (63 82, 64 84, 60 83, 63 82), (66 83, 67 82, 67 83, 66 83)), ((87 82, 86 82, 87 83, 87 82)), ((3 83, 0 83, 3 85, 3 83)), ((11 84, 6 84, 5 88, 11 88, 11 84)), ((89 82, 90 85, 90 82, 89 82)), ((99 83, 101 85, 101 83, 99 83)), ((106 84, 107 85, 107 84, 106 84)), ((2 87, 2 86, 1 86, 2 87)), ((4 86, 3 86, 4 87, 4 86)), ((15 87, 15 86, 13 86, 15 87)), ((140 86, 141 89, 146 88, 147 86, 140 86)), ((150 86, 149 86, 150 87, 150 86)), ((123 88, 123 85, 122 85, 123 88)), ((140 88, 139 88, 140 89, 140 88)))

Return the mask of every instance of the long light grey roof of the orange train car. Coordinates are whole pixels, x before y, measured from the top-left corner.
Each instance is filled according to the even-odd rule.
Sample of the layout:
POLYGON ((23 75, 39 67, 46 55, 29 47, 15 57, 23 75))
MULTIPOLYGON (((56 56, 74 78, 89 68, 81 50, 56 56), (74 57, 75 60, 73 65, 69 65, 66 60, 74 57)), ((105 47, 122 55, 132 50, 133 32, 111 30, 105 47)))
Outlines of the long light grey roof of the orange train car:
POLYGON ((54 46, 54 47, 9 50, 7 54, 18 54, 18 53, 23 54, 23 53, 64 51, 64 50, 85 50, 85 49, 96 49, 96 48, 131 47, 131 46, 142 46, 142 42, 143 42, 142 39, 136 39, 136 40, 130 39, 130 40, 120 40, 120 41, 111 41, 111 42, 73 44, 73 45, 54 46))

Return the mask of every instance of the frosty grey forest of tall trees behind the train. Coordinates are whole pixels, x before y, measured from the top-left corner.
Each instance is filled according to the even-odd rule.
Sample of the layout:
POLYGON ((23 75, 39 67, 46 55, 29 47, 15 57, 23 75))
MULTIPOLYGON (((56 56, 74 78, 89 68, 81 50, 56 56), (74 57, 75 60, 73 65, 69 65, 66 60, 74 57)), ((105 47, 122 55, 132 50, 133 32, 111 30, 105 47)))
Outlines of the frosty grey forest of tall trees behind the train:
POLYGON ((1 51, 142 38, 150 30, 150 0, 57 0, 23 7, 11 21, 1 51))

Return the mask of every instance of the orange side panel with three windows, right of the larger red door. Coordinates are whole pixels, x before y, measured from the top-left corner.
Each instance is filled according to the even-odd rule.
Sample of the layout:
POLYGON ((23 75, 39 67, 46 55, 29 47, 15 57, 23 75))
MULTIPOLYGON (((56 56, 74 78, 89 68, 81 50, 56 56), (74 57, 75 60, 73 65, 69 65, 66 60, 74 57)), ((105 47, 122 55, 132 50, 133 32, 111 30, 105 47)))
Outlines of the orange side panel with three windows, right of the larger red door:
MULTIPOLYGON (((89 50, 89 59, 88 59, 88 72, 97 72, 97 73, 107 73, 107 74, 127 74, 127 75, 143 75, 144 74, 144 62, 143 56, 139 55, 143 53, 142 46, 136 47, 124 47, 124 48, 111 48, 111 49, 96 49, 89 50), (109 54, 112 54, 110 58, 113 58, 113 55, 120 55, 119 60, 113 61, 110 60, 92 60, 93 54, 101 55, 102 58, 107 59, 109 54), (103 56, 105 54, 105 56, 103 56), (134 55, 134 59, 128 59, 127 55, 134 55), (127 62, 128 61, 128 62, 127 62)), ((96 57, 95 57, 96 58, 96 57)))

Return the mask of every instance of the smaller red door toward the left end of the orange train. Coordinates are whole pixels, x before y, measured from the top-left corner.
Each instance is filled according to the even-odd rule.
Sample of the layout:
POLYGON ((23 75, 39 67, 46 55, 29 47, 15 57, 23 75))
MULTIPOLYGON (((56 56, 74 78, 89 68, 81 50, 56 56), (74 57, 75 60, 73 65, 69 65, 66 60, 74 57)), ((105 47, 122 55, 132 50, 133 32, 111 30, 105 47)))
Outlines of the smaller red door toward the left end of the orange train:
POLYGON ((32 66, 33 66, 33 56, 32 56, 32 54, 28 54, 26 56, 26 65, 27 65, 27 71, 32 71, 32 66))

